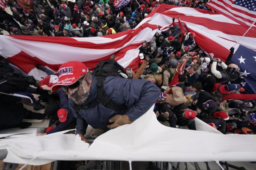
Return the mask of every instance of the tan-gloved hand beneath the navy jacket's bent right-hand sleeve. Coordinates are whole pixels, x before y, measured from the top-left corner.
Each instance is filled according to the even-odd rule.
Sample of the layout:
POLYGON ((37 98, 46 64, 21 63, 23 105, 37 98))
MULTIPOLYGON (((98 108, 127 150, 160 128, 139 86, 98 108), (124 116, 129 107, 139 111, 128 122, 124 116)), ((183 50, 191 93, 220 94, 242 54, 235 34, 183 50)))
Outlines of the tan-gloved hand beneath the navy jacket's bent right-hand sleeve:
POLYGON ((125 115, 115 115, 112 118, 109 119, 109 122, 113 124, 108 125, 107 127, 109 129, 114 129, 116 127, 122 126, 124 124, 131 124, 131 120, 129 119, 129 117, 125 114, 125 115))

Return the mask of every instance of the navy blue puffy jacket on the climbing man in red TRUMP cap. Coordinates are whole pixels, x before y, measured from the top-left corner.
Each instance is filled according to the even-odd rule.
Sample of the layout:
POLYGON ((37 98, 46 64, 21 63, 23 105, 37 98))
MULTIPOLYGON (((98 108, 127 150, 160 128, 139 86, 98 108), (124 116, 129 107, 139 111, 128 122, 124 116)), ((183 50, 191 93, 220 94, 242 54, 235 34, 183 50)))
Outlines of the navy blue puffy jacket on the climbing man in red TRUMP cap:
MULTIPOLYGON (((97 82, 96 77, 92 76, 90 95, 85 102, 86 104, 96 100, 97 82)), ((118 105, 125 104, 128 109, 116 111, 99 103, 93 108, 80 109, 79 112, 76 112, 73 109, 73 100, 69 99, 70 108, 72 108, 76 117, 76 133, 84 134, 88 124, 93 128, 109 130, 107 125, 110 124, 109 119, 114 115, 127 114, 131 121, 135 121, 148 111, 160 94, 160 89, 151 81, 113 76, 108 76, 105 79, 104 89, 114 103, 118 105)))

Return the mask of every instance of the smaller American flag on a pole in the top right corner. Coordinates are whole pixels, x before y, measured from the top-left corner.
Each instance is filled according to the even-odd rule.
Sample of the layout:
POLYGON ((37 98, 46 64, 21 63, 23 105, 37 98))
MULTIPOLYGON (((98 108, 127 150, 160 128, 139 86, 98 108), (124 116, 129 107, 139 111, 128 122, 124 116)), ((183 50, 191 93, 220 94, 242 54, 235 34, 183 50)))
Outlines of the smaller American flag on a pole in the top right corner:
POLYGON ((255 25, 256 0, 210 0, 206 6, 238 23, 255 25))

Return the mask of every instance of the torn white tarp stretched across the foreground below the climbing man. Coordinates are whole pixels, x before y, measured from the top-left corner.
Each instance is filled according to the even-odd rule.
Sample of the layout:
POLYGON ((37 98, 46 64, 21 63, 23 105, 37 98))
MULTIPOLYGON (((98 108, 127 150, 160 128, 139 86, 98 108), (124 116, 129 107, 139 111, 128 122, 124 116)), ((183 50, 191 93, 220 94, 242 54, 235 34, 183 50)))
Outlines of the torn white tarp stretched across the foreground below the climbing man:
POLYGON ((53 160, 256 161, 256 135, 165 127, 152 109, 134 123, 100 135, 90 147, 75 135, 60 132, 10 138, 0 141, 0 149, 8 149, 6 162, 26 164, 35 158, 29 162, 33 165, 53 160))

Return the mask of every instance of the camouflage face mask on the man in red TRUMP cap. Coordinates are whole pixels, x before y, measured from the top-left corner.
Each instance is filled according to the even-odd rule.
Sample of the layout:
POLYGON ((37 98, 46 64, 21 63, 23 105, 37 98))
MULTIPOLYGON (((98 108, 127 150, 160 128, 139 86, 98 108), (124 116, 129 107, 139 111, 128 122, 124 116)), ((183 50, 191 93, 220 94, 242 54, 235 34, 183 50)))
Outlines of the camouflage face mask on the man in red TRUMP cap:
POLYGON ((79 86, 75 89, 69 89, 69 91, 66 93, 76 104, 83 104, 90 94, 92 75, 87 73, 78 81, 80 82, 79 86))

